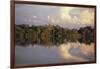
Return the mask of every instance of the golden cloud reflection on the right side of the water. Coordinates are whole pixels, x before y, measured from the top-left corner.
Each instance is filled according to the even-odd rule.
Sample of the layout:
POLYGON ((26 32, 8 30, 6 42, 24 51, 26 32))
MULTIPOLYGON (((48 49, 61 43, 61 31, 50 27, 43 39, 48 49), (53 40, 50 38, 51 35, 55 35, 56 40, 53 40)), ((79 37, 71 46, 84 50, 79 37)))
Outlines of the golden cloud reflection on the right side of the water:
POLYGON ((93 61, 94 43, 90 45, 84 43, 67 43, 59 47, 61 56, 64 59, 73 59, 75 61, 93 61))

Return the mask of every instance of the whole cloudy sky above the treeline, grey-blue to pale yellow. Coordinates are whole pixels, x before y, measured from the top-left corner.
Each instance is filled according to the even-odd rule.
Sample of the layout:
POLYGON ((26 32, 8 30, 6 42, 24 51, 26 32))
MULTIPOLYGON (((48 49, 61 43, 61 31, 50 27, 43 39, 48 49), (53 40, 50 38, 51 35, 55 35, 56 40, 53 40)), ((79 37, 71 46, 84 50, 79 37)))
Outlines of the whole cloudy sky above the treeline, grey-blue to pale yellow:
POLYGON ((94 26, 94 8, 49 6, 49 5, 15 5, 15 24, 59 25, 63 28, 79 29, 94 26))

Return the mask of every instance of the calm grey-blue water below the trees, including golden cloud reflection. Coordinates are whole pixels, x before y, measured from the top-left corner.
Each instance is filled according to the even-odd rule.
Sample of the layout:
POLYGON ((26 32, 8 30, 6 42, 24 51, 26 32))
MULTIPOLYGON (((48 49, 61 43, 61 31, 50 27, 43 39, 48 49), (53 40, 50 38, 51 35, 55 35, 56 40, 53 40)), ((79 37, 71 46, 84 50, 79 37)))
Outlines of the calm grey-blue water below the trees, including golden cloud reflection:
POLYGON ((94 43, 68 42, 59 46, 16 45, 16 65, 54 64, 94 61, 94 43))

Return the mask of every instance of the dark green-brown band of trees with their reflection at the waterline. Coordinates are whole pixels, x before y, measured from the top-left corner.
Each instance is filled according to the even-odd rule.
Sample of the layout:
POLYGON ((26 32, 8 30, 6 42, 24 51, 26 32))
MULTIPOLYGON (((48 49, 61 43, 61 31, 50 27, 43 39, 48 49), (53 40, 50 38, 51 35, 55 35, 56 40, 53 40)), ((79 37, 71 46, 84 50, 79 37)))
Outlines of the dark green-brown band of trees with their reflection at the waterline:
POLYGON ((62 28, 58 25, 29 26, 15 25, 16 44, 43 44, 59 45, 65 42, 76 42, 90 44, 94 42, 95 30, 90 26, 77 29, 62 28))

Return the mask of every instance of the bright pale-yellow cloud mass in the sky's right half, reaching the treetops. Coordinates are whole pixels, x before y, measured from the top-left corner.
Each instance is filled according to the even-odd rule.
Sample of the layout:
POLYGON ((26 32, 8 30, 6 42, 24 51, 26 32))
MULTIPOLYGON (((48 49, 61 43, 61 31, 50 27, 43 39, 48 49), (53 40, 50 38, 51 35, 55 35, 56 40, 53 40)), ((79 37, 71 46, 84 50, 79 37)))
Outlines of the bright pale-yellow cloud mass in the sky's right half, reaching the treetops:
POLYGON ((94 26, 94 9, 82 7, 60 7, 59 23, 62 27, 70 29, 85 26, 94 26))

